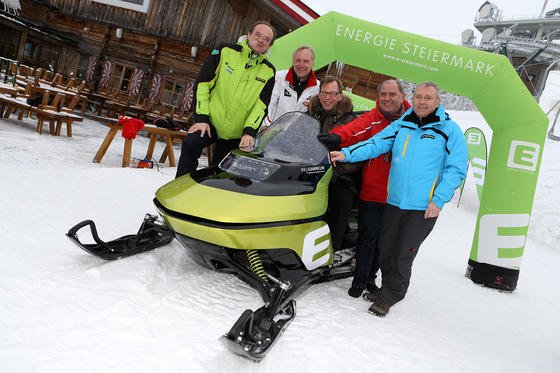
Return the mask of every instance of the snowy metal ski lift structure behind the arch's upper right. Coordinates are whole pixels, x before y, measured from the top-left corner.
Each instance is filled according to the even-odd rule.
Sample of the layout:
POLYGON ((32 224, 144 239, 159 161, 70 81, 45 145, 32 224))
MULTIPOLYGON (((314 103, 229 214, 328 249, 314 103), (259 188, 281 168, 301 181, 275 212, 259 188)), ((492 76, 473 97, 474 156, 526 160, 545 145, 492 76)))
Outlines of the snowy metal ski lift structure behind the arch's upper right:
MULTIPOLYGON (((461 34, 463 46, 507 56, 537 101, 550 70, 560 68, 560 8, 545 13, 546 5, 547 0, 539 15, 506 18, 495 4, 485 1, 473 23, 481 33, 478 45, 473 30, 467 29, 461 34)), ((551 131, 557 120, 558 115, 551 131)), ((549 132, 549 138, 560 140, 552 132, 549 132)))

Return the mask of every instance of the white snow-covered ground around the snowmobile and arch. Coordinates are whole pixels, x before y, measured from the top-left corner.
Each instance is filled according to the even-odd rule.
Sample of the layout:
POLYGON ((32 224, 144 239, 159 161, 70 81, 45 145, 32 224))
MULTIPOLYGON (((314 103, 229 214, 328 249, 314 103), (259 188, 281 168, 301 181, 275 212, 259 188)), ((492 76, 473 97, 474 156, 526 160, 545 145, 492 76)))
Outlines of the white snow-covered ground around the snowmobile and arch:
MULTIPOLYGON (((464 128, 477 112, 451 112, 464 128)), ((102 238, 134 233, 175 169, 121 168, 123 139, 91 162, 107 127, 38 135, 0 120, 0 370, 4 372, 558 372, 560 142, 546 140, 518 288, 464 277, 477 197, 443 210, 414 264, 406 299, 386 318, 350 298, 350 279, 297 299, 297 316, 259 364, 218 341, 260 297, 234 276, 197 266, 177 241, 105 262, 64 233, 93 219, 102 238)), ((143 157, 147 139, 134 141, 143 157)), ((157 145, 159 155, 162 144, 157 145)), ((178 156, 178 148, 176 149, 178 156)))

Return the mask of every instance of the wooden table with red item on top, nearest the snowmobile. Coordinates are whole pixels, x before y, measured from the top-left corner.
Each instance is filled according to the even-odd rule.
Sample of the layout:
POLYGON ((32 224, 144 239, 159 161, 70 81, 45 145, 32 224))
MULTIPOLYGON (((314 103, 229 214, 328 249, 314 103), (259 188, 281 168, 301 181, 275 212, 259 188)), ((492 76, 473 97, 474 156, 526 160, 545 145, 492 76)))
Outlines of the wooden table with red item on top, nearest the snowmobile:
MULTIPOLYGON (((122 125, 119 123, 117 118, 108 118, 94 115, 92 119, 102 122, 103 124, 109 126, 109 132, 103 139, 99 150, 93 157, 93 163, 100 163, 103 159, 103 156, 109 149, 109 146, 113 142, 115 135, 122 130, 122 125)), ((169 159, 169 167, 175 167, 175 154, 173 152, 173 139, 174 138, 181 138, 183 139, 187 133, 184 131, 171 131, 167 128, 156 127, 153 125, 146 124, 144 125, 143 131, 146 131, 150 135, 150 143, 148 145, 148 149, 146 151, 146 158, 151 159, 154 153, 154 148, 157 142, 157 136, 163 136, 165 139, 165 149, 161 154, 159 159, 160 163, 169 159)), ((123 157, 122 157, 122 167, 128 167, 130 164, 130 153, 132 152, 132 139, 125 139, 124 140, 124 149, 123 149, 123 157)))

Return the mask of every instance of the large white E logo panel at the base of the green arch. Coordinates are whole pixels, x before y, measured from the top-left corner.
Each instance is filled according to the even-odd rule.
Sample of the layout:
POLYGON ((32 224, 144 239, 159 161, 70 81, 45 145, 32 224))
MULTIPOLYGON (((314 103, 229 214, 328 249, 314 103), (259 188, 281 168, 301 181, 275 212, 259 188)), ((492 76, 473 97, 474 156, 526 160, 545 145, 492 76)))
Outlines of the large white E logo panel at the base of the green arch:
POLYGON ((526 234, 500 234, 505 229, 523 229, 529 225, 529 214, 487 214, 480 218, 478 258, 480 263, 518 269, 521 265, 526 234))

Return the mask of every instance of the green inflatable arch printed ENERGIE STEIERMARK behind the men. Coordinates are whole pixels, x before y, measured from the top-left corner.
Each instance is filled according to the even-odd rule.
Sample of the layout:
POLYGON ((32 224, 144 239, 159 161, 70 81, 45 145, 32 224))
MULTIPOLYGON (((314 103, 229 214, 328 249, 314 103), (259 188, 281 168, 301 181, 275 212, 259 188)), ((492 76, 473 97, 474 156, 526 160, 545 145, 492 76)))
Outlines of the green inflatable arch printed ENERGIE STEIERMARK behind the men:
POLYGON ((548 118, 507 58, 330 12, 275 42, 276 68, 287 69, 303 44, 315 49, 317 68, 342 61, 411 82, 433 81, 473 101, 493 136, 467 277, 514 290, 548 118))

